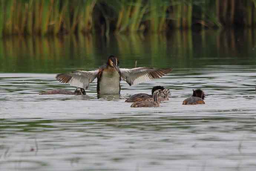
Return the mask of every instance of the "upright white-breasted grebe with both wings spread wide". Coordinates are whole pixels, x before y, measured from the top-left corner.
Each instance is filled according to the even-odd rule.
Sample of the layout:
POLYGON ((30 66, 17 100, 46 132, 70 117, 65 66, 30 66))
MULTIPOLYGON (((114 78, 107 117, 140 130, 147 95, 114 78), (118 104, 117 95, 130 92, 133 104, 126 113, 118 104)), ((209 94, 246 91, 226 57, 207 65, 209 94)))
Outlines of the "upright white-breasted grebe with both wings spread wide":
POLYGON ((119 68, 119 60, 116 56, 109 56, 106 65, 93 71, 77 70, 56 75, 56 79, 72 86, 88 88, 89 83, 97 78, 97 93, 119 94, 120 81, 125 80, 130 86, 142 81, 160 78, 171 72, 171 68, 139 67, 133 69, 119 68))

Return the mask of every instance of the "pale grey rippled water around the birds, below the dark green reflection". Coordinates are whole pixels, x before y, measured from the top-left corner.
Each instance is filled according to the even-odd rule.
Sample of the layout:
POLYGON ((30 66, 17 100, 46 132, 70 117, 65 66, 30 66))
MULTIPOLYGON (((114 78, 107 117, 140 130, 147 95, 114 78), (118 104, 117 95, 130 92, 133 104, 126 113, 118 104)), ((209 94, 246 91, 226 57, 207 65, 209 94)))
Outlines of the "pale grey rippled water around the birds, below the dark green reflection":
POLYGON ((120 96, 38 95, 74 88, 53 74, 0 73, 1 170, 254 170, 255 66, 184 68, 129 86, 120 96), (125 99, 171 89, 160 108, 125 99), (206 105, 183 106, 202 88, 206 105))

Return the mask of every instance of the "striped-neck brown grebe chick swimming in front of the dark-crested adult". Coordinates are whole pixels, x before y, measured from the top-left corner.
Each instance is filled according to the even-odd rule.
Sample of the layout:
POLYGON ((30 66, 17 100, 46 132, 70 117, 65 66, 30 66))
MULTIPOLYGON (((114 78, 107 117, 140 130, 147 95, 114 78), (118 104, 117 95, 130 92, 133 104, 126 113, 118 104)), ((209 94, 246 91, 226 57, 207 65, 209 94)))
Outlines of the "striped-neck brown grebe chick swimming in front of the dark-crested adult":
POLYGON ((159 107, 161 96, 165 96, 163 90, 157 90, 153 94, 153 100, 147 99, 145 101, 134 102, 134 103, 132 103, 131 107, 132 108, 159 107))

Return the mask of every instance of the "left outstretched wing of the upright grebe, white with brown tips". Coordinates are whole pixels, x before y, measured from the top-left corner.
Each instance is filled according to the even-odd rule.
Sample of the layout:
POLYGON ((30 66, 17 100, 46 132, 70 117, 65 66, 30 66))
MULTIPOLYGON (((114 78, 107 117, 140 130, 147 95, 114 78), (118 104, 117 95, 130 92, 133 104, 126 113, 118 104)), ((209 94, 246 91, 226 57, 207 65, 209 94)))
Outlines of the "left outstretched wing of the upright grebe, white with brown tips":
POLYGON ((95 78, 97 78, 99 70, 94 71, 82 71, 77 70, 69 73, 61 73, 56 75, 56 79, 62 83, 69 83, 72 86, 88 88, 95 78))

